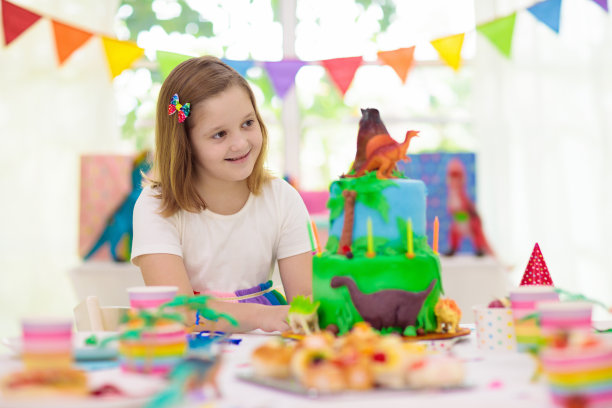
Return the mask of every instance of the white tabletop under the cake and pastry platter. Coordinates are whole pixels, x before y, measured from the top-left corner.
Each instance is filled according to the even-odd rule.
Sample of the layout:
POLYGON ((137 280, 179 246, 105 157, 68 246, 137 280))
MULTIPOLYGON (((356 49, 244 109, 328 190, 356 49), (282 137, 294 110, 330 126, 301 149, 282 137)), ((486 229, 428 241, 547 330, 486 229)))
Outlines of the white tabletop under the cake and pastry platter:
MULTIPOLYGON (((467 325, 470 327, 470 325, 467 325)), ((609 327, 609 325, 607 326, 609 327)), ((483 407, 505 408, 550 407, 551 403, 544 380, 538 383, 529 381, 534 361, 525 354, 499 353, 489 354, 476 349, 474 333, 457 343, 453 352, 465 361, 466 382, 472 387, 468 390, 446 392, 413 392, 413 391, 371 391, 366 393, 347 393, 331 395, 316 399, 280 392, 251 383, 243 382, 237 373, 248 372, 251 352, 260 344, 271 338, 262 332, 237 334, 234 338, 242 339, 240 345, 227 345, 223 352, 222 368, 218 382, 223 394, 221 400, 211 407, 220 408, 299 408, 299 407, 483 407)), ((611 339, 612 340, 612 339, 611 339)), ((12 355, 0 355, 0 375, 19 369, 20 361, 12 355)), ((116 369, 118 370, 118 369, 116 369)), ((98 372, 96 375, 103 375, 98 372)), ((109 373, 106 373, 107 375, 109 373)), ((45 401, 45 407, 80 407, 80 408, 126 408, 141 407, 143 400, 116 400, 112 404, 89 401, 87 404, 71 405, 67 401, 45 401)), ((25 408, 37 407, 36 403, 11 402, 0 397, 0 407, 25 408)), ((194 405, 202 407, 202 404, 194 405)))

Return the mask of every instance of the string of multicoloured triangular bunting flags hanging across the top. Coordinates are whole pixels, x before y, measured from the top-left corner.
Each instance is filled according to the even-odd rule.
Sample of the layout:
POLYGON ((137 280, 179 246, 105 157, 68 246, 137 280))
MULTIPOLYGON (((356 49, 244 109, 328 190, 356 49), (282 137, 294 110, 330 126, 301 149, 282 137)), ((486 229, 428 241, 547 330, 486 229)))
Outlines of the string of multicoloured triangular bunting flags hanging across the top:
MULTIPOLYGON (((49 18, 53 26, 55 47, 58 63, 61 66, 66 60, 90 38, 100 37, 106 53, 111 78, 115 78, 125 69, 130 68, 144 55, 144 50, 130 41, 120 41, 116 38, 97 34, 73 27, 56 19, 22 8, 7 0, 2 1, 2 24, 5 46, 13 43, 29 27, 42 17, 49 18)), ((562 0, 544 0, 527 7, 539 22, 545 24, 556 34, 559 33, 562 0)), ((601 7, 606 13, 608 0, 590 0, 601 7)), ((478 24, 476 31, 487 38, 491 44, 506 58, 511 57, 512 39, 517 11, 478 24)), ((438 52, 440 59, 449 67, 458 71, 461 68, 461 50, 465 33, 453 34, 430 41, 438 52)), ((410 70, 414 66, 414 50, 416 46, 399 48, 390 51, 379 51, 378 59, 382 64, 390 66, 405 83, 410 70)), ((167 76, 170 71, 182 61, 191 58, 189 55, 176 54, 167 51, 157 51, 157 62, 162 75, 167 76)), ((276 94, 284 98, 287 91, 293 86, 297 72, 304 65, 321 65, 325 68, 332 82, 344 96, 350 87, 357 69, 363 64, 363 57, 333 58, 322 61, 302 61, 298 59, 283 59, 282 61, 237 61, 224 60, 243 76, 253 66, 263 67, 274 87, 276 94)))

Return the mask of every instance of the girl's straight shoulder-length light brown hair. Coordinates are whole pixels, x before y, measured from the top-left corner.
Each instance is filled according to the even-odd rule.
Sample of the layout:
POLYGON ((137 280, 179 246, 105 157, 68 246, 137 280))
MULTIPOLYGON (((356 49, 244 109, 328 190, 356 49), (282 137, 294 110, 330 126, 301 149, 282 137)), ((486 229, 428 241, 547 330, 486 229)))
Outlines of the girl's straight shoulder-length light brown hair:
POLYGON ((179 102, 189 102, 191 109, 199 102, 214 97, 232 86, 246 91, 255 111, 263 136, 261 152, 255 161, 253 172, 247 178, 247 186, 253 194, 261 192, 263 184, 271 176, 264 168, 268 144, 268 131, 257 110, 255 95, 248 82, 232 67, 218 58, 204 56, 191 58, 172 70, 164 81, 157 100, 155 120, 155 160, 150 186, 160 198, 161 214, 169 217, 179 210, 199 212, 206 208, 195 189, 195 156, 189 141, 191 117, 179 123, 177 115, 168 115, 172 95, 178 94, 179 102))

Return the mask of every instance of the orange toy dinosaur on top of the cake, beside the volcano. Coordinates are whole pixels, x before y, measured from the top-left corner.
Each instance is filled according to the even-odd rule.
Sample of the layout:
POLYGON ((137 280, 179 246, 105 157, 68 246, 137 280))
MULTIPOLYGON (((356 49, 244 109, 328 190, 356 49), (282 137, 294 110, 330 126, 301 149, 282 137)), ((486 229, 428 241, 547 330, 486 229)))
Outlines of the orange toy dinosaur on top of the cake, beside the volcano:
POLYGON ((395 164, 402 160, 408 161, 406 151, 410 145, 410 139, 419 134, 416 130, 406 132, 406 138, 398 143, 388 134, 379 134, 372 137, 366 146, 366 161, 357 168, 355 177, 363 176, 366 171, 376 170, 379 179, 393 178, 395 164))

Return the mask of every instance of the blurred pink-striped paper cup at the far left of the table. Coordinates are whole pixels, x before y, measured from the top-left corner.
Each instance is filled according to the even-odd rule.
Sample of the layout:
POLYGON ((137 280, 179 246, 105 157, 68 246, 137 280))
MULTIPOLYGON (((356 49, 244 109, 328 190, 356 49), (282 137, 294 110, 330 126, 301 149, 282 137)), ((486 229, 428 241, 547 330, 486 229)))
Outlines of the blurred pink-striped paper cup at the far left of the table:
POLYGON ((26 369, 72 365, 72 319, 26 318, 21 321, 22 360, 26 369))

